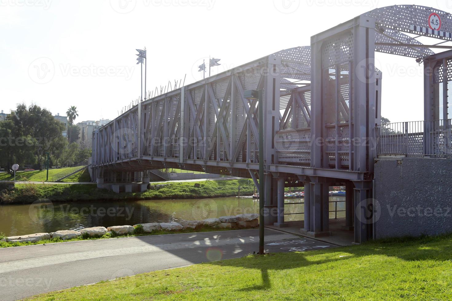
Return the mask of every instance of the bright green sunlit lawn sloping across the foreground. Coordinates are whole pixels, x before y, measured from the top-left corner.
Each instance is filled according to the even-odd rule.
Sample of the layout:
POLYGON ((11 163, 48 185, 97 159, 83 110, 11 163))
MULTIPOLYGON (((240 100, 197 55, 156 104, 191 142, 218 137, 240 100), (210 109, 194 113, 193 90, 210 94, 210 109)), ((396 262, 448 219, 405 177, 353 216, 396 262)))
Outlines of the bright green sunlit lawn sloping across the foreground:
POLYGON ((196 264, 38 300, 450 300, 452 236, 196 264), (346 257, 340 257, 346 256, 346 257))

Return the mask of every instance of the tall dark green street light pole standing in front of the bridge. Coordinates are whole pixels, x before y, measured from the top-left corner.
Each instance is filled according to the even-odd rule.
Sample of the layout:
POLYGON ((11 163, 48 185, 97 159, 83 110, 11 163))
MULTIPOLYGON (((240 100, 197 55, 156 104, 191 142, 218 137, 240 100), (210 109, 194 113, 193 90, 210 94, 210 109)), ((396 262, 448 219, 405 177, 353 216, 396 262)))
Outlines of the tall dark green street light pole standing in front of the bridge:
POLYGON ((259 109, 259 254, 264 254, 264 90, 245 90, 244 97, 258 99, 259 109))

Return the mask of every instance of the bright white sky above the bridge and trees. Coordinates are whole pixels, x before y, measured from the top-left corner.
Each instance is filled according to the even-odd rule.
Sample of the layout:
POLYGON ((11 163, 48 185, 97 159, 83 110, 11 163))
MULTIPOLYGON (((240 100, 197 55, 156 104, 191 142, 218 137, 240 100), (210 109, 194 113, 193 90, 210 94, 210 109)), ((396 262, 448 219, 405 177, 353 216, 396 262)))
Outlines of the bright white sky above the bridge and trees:
MULTIPOLYGON (((409 2, 452 11, 452 0, 409 2)), ((202 79, 197 66, 209 55, 221 58, 222 65, 212 68, 216 74, 309 45, 315 33, 394 4, 404 3, 0 0, 0 109, 8 113, 19 102, 35 102, 65 115, 75 105, 76 122, 113 119, 140 95, 136 48, 147 47, 147 87, 152 90, 185 74, 185 84, 202 79), (36 68, 50 72, 44 76, 36 68)), ((393 122, 422 120, 422 67, 401 56, 377 53, 376 59, 383 72, 382 115, 393 122)))

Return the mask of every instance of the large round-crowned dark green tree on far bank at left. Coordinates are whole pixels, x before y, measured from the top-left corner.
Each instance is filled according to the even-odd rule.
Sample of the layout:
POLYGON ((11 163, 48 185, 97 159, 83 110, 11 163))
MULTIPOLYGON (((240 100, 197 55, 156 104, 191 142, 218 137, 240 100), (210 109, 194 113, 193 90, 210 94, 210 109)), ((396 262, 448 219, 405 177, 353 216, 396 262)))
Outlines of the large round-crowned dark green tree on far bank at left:
MULTIPOLYGON (((44 153, 52 153, 59 147, 57 141, 62 137, 61 132, 64 130, 64 125, 55 120, 50 111, 33 103, 29 107, 24 103, 19 104, 16 111, 8 118, 14 124, 15 137, 26 139, 29 142, 28 148, 24 148, 24 150, 28 151, 28 156, 30 152, 37 156, 38 168, 42 170, 44 153)), ((16 149, 14 156, 23 152, 16 149)))

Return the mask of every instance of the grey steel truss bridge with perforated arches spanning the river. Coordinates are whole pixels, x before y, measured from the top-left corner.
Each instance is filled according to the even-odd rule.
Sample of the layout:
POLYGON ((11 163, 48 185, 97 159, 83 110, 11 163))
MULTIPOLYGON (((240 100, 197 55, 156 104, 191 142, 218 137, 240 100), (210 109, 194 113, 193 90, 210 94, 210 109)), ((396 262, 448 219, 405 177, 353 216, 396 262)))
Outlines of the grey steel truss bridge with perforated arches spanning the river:
MULTIPOLYGON (((301 231, 311 236, 329 235, 328 187, 345 185, 344 226, 354 226, 355 242, 366 241, 373 236, 372 219, 367 222, 365 210, 354 208, 372 205, 376 157, 394 155, 380 139, 388 133, 408 137, 405 128, 392 133, 380 125, 382 74, 374 66, 375 51, 433 68, 424 76, 424 119, 447 119, 447 105, 440 102, 447 101, 452 54, 435 55, 416 37, 451 41, 451 32, 452 15, 438 9, 374 9, 315 34, 310 46, 278 51, 143 100, 94 132, 92 179, 99 186, 146 183, 147 171, 174 167, 249 177, 258 187, 258 180, 265 181, 260 193, 265 195, 266 224, 280 227, 285 225, 284 187, 304 186, 301 231), (432 13, 442 20, 440 31, 429 28, 432 13), (446 89, 439 97, 441 84, 446 89), (263 89, 263 103, 245 98, 249 89, 263 89), (260 105, 264 120, 257 115, 260 105), (259 122, 264 122, 264 149, 258 148, 259 122), (264 152, 264 179, 258 179, 259 151, 264 152)), ((429 124, 419 132, 427 138, 432 130, 438 126, 429 124)), ((391 139, 391 145, 400 145, 396 136, 391 139)), ((408 138, 403 141, 410 144, 408 138)), ((418 144, 418 153, 427 156, 431 153, 424 150, 438 141, 418 144)))

